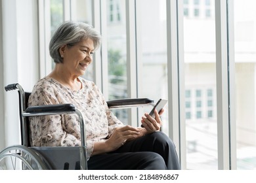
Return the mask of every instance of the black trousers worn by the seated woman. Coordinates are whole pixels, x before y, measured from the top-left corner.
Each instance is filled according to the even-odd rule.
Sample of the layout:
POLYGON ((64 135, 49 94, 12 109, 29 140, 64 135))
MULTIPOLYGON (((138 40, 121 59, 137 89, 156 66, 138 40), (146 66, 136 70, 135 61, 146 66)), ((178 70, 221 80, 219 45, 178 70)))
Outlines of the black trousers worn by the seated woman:
POLYGON ((144 135, 107 154, 91 156, 91 170, 181 169, 173 141, 160 131, 144 135))

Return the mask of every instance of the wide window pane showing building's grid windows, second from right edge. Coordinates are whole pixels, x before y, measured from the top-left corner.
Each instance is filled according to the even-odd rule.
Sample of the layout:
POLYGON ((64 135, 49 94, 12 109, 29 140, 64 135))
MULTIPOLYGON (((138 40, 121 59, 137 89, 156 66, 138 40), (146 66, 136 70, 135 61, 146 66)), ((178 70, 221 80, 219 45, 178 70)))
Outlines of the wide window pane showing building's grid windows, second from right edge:
MULTIPOLYGON (((194 17, 184 16, 185 90, 191 92, 192 101, 186 108, 187 169, 218 169, 215 17, 199 18, 205 11, 204 2, 193 1, 194 17)), ((214 3, 207 2, 212 12, 214 3)))

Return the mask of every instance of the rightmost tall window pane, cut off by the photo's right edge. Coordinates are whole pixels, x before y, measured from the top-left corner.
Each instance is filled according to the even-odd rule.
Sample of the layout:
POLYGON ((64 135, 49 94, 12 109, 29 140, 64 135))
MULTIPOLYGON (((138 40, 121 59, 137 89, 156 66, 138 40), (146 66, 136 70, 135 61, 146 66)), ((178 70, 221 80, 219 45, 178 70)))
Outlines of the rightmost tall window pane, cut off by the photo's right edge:
POLYGON ((238 169, 256 169, 256 1, 234 1, 238 169))

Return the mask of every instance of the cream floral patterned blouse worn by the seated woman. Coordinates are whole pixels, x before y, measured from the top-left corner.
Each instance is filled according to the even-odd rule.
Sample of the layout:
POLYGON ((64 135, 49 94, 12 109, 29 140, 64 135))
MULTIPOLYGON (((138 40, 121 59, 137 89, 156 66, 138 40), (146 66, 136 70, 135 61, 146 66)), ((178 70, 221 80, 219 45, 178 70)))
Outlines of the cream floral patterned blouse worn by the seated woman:
MULTIPOLYGON (((42 78, 35 84, 28 106, 72 103, 83 113, 87 157, 93 144, 106 141, 116 127, 123 126, 109 110, 104 96, 91 81, 79 77, 81 90, 72 91, 53 78, 42 78)), ((30 117, 32 146, 80 146, 80 125, 76 114, 30 117)))

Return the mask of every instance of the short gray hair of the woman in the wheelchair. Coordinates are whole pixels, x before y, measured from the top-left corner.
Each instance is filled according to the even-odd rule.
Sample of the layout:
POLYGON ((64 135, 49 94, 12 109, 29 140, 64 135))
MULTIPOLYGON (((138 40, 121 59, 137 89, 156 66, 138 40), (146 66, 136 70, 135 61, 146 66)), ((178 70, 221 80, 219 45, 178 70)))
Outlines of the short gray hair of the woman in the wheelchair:
POLYGON ((63 22, 53 34, 49 44, 50 55, 55 63, 62 63, 59 49, 67 44, 74 46, 82 39, 92 39, 95 50, 100 46, 101 36, 91 25, 83 22, 63 22))

